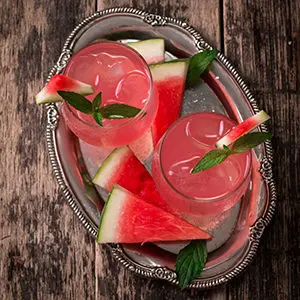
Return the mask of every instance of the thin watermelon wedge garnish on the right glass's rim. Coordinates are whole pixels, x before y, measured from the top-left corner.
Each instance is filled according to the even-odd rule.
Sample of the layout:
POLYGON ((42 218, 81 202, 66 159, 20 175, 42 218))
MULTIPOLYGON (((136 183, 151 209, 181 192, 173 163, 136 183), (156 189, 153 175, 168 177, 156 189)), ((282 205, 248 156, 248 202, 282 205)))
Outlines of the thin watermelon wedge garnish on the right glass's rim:
POLYGON ((220 140, 217 141, 216 147, 219 149, 223 149, 224 145, 229 146, 238 138, 248 133, 249 131, 255 129, 257 126, 269 119, 270 116, 263 110, 261 110, 259 113, 243 121, 242 123, 234 127, 232 130, 230 130, 229 133, 227 133, 225 136, 223 136, 220 140))

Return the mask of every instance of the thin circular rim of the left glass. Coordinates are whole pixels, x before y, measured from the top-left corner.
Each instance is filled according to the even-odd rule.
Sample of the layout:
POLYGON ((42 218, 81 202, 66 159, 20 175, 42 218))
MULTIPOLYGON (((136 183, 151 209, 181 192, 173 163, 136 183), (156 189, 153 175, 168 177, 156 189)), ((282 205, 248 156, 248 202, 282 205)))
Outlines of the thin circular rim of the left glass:
MULTIPOLYGON (((115 44, 115 45, 118 45, 118 47, 121 46, 123 48, 126 48, 127 50, 129 50, 130 52, 134 53, 138 57, 138 59, 144 65, 144 67, 145 67, 145 69, 146 69, 146 71, 148 73, 147 74, 148 78, 149 78, 149 92, 148 92, 148 97, 147 97, 146 102, 144 103, 143 107, 140 108, 140 111, 139 111, 139 113, 136 116, 134 116, 133 118, 124 118, 124 119, 128 119, 128 120, 126 120, 125 122, 123 122, 121 124, 115 125, 115 126, 99 126, 99 125, 96 125, 96 124, 90 124, 90 123, 86 122, 85 120, 82 120, 81 118, 79 118, 78 115, 76 115, 74 113, 74 111, 71 109, 70 105, 66 101, 64 101, 62 103, 62 105, 66 106, 66 108, 68 109, 68 111, 74 116, 74 118, 76 118, 77 121, 79 121, 80 123, 85 124, 86 126, 91 127, 91 128, 115 129, 115 128, 123 127, 123 126, 125 126, 127 124, 132 123, 135 120, 139 120, 139 119, 143 118, 145 116, 145 111, 146 111, 147 107, 150 105, 150 102, 151 102, 152 96, 153 96, 153 78, 152 78, 152 74, 151 74, 149 65, 147 64, 147 62, 145 61, 145 59, 142 57, 142 55, 140 55, 133 48, 131 48, 131 47, 129 47, 126 44, 123 44, 121 42, 115 42, 115 41, 109 41, 109 40, 107 40, 107 41, 106 40, 105 41, 104 40, 103 41, 96 41, 96 42, 93 42, 93 43, 87 45, 86 47, 83 47, 82 49, 80 49, 79 51, 77 51, 73 56, 71 56, 70 61, 71 61, 72 57, 76 56, 82 50, 90 48, 92 46, 95 46, 95 44, 115 44)), ((68 62, 68 64, 70 63, 70 61, 68 62)), ((68 64, 64 68, 62 74, 64 74, 64 72, 65 72, 68 64)))

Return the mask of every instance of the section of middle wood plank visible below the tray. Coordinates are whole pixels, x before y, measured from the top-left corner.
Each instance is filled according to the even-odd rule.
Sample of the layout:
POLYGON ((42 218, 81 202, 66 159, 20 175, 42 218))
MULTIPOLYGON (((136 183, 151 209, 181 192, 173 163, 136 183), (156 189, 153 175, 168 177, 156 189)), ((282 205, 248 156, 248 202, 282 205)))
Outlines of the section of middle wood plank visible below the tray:
POLYGON ((111 257, 105 246, 96 249, 97 299, 118 300, 192 300, 192 299, 226 299, 226 287, 212 291, 184 290, 161 280, 141 278, 125 269, 111 257), (100 266, 100 267, 97 267, 100 266))

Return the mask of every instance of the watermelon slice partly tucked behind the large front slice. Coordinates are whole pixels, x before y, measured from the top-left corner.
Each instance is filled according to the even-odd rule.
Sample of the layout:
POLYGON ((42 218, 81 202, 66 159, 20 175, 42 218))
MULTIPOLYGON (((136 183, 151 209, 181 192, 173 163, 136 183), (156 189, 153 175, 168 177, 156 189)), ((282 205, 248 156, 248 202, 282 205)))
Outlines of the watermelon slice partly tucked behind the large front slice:
POLYGON ((93 183, 108 191, 117 183, 141 199, 176 214, 161 198, 152 176, 128 147, 111 152, 94 176, 93 183))

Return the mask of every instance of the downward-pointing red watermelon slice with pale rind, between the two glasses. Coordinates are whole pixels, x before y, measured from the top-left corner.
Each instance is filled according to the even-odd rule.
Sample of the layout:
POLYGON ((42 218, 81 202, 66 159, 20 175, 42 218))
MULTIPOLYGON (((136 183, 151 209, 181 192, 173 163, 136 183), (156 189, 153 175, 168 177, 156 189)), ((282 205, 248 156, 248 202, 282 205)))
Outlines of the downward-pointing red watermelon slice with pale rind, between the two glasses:
POLYGON ((153 143, 179 118, 183 101, 187 60, 175 60, 150 66, 159 105, 152 125, 153 143))

